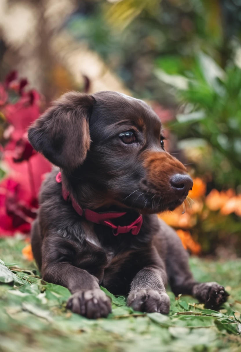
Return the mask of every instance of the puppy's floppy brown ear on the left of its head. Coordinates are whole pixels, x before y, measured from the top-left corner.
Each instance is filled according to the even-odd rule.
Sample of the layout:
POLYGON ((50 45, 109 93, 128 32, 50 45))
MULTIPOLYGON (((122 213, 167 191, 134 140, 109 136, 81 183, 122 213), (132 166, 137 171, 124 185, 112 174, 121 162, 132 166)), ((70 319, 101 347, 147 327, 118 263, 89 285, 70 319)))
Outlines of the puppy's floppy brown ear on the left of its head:
POLYGON ((29 141, 51 163, 73 170, 87 155, 91 139, 89 117, 95 99, 88 94, 66 93, 29 128, 29 141))

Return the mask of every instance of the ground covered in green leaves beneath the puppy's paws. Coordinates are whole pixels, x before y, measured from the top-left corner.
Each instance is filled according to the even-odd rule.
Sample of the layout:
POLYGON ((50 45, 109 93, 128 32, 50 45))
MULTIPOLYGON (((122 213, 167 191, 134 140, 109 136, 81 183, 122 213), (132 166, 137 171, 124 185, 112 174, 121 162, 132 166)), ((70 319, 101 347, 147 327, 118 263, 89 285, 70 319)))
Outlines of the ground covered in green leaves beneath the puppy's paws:
POLYGON ((0 239, 0 351, 241 351, 241 260, 191 258, 200 281, 218 281, 229 291, 220 312, 190 296, 171 292, 168 316, 134 312, 124 297, 112 298, 107 319, 88 320, 66 310, 69 291, 44 282, 23 258, 25 242, 0 239))

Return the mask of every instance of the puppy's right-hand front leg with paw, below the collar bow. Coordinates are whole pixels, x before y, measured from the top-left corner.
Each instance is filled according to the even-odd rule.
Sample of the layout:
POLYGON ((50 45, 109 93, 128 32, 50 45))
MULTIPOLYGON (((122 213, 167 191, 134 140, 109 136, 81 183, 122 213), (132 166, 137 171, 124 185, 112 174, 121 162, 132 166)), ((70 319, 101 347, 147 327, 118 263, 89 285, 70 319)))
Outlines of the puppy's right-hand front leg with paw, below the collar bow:
POLYGON ((165 290, 167 275, 165 264, 155 248, 148 253, 140 253, 139 260, 144 264, 133 281, 128 295, 128 305, 141 312, 168 314, 170 299, 165 290), (145 266, 146 265, 146 266, 145 266))

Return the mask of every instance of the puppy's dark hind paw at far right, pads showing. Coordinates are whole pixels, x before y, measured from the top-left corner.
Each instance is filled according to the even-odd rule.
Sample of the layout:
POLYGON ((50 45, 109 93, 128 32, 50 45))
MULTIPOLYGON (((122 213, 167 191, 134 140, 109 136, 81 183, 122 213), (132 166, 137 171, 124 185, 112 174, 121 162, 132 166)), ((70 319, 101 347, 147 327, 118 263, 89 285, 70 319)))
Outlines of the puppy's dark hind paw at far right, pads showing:
POLYGON ((206 308, 218 310, 227 301, 229 294, 217 282, 205 282, 193 287, 193 296, 205 303, 206 308))

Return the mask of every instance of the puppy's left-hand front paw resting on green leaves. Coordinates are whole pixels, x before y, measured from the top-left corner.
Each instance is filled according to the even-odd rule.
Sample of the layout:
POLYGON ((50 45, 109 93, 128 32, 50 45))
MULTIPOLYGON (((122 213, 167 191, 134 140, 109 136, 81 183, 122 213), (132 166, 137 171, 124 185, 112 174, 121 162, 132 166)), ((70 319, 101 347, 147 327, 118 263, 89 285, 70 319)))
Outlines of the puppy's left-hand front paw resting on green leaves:
POLYGON ((111 312, 111 301, 100 289, 81 290, 69 298, 66 308, 89 319, 106 318, 111 312))

